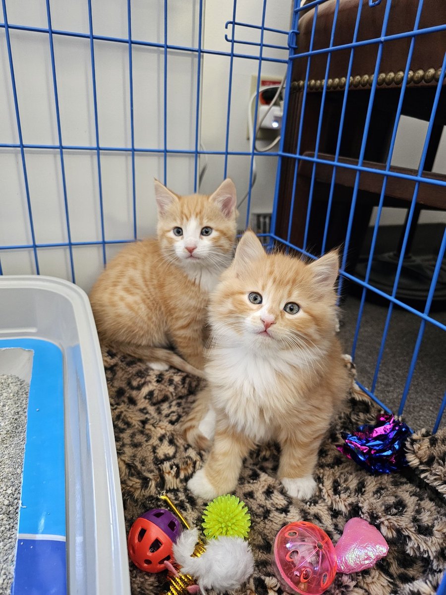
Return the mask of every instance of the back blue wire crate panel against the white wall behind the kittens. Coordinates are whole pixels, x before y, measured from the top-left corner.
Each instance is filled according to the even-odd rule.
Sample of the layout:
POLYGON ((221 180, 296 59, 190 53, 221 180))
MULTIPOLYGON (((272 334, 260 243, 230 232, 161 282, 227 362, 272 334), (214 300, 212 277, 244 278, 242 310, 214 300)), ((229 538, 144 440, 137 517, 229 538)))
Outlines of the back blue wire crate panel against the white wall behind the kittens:
POLYGON ((252 76, 285 72, 290 16, 289 0, 4 0, 0 273, 88 290, 154 233, 153 177, 187 194, 231 176, 240 228, 252 193, 271 212, 277 152, 253 190, 246 106, 252 76))

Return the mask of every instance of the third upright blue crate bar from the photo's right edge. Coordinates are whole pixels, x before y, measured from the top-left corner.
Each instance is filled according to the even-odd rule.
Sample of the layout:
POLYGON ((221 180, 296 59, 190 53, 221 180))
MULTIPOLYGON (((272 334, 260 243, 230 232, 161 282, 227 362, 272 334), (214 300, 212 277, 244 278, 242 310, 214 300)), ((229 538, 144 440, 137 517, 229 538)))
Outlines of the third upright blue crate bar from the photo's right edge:
MULTIPOLYGON (((444 55, 444 58, 443 58, 443 64, 441 67, 442 78, 440 80, 443 80, 445 70, 446 70, 446 54, 444 55)), ((435 91, 434 105, 432 105, 431 118, 429 118, 428 130, 426 132, 425 143, 423 146, 423 151, 422 151, 421 158, 420 158, 420 164, 418 167, 419 175, 423 171, 423 167, 425 165, 426 154, 428 152, 429 140, 431 139, 432 127, 434 126, 436 108, 438 107, 441 89, 442 89, 442 85, 440 84, 440 82, 438 82, 438 84, 436 86, 436 91, 435 91)), ((414 212, 415 205, 416 205, 419 187, 420 187, 420 184, 419 184, 419 182, 417 182, 415 184, 415 187, 413 190, 412 202, 410 203, 409 213, 407 214, 406 231, 404 232, 403 243, 401 245, 401 254, 400 254, 400 259, 399 259, 398 265, 397 265, 397 272, 395 274, 395 281, 394 281, 394 285, 393 285, 393 289, 392 289, 392 297, 395 297, 395 295, 397 294, 398 281, 400 280, 401 268, 403 267, 403 260, 404 260, 404 255, 406 253, 407 240, 409 239, 410 224, 412 223, 412 217, 413 217, 413 212, 414 212)), ((381 346, 379 347, 378 358, 376 359, 375 374, 373 375, 373 381, 372 381, 372 390, 375 390, 376 381, 378 381, 379 367, 381 365, 382 355, 384 353, 384 347, 385 347, 385 342, 387 340, 387 334, 389 331, 392 311, 393 311, 393 303, 391 302, 389 304, 389 309, 387 312, 387 318, 386 318, 385 325, 384 325, 384 332, 382 333, 381 346)))

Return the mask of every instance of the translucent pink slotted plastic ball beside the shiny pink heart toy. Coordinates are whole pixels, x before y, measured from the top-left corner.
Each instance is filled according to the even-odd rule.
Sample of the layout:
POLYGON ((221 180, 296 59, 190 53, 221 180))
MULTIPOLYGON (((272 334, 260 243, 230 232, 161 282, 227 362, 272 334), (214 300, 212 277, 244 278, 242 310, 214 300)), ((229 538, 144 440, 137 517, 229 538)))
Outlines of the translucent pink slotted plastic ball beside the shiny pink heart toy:
POLYGON ((288 593, 320 595, 331 585, 337 571, 331 539, 306 521, 281 528, 274 541, 272 560, 277 579, 288 593))

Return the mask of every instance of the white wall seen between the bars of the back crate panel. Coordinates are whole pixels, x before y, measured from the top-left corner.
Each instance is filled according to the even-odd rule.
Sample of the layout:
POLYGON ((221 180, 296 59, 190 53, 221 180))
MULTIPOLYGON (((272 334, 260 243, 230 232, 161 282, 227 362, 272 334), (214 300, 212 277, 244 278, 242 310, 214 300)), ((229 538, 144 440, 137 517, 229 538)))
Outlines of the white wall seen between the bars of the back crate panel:
MULTIPOLYGON (((261 23, 262 3, 238 3, 237 20, 261 23)), ((288 29, 290 0, 270 0, 266 26, 288 29)), ((45 0, 7 0, 8 22, 48 27, 45 0)), ((164 42, 164 2, 132 0, 133 39, 164 42)), ((181 46, 198 44, 198 0, 168 0, 168 42, 181 46)), ((52 28, 89 33, 86 0, 52 0, 52 28)), ((224 39, 224 24, 230 20, 233 0, 208 1, 204 11, 203 47, 230 52, 224 39)), ((4 21, 0 10, 0 20, 4 21)), ((125 39, 127 2, 92 0, 95 35, 125 39)), ((44 33, 10 30, 17 82, 23 139, 26 144, 58 144, 49 37, 44 33)), ((237 32, 241 39, 258 39, 255 30, 237 32)), ((270 37, 277 42, 277 37, 270 37)), ((266 39, 265 39, 266 40, 266 39)), ((284 39, 286 41, 286 39, 284 39)), ((99 143, 101 146, 131 146, 128 45, 96 40, 96 85, 98 94, 99 143)), ((250 46, 235 51, 257 52, 250 46)), ((92 67, 89 39, 54 36, 61 133, 64 145, 95 145, 92 67)), ((286 52, 266 52, 286 57, 286 52)), ((202 142, 210 151, 223 150, 227 120, 228 69, 230 59, 205 55, 202 60, 202 142)), ((197 55, 168 52, 167 146, 195 147, 197 55)), ((231 98, 230 150, 248 151, 246 111, 250 76, 257 73, 258 60, 234 60, 231 98)), ((284 65, 266 63, 265 74, 282 76, 284 65)), ((133 46, 134 137, 137 148, 164 148, 164 49, 133 46)), ((11 91, 5 30, 0 29, 0 143, 17 143, 17 124, 11 91)), ((26 149, 34 228, 37 243, 67 242, 61 161, 58 150, 26 149)), ((64 151, 67 201, 74 242, 99 241, 100 210, 96 152, 64 151)), ((136 154, 136 202, 138 237, 152 234, 156 224, 153 177, 164 181, 162 154, 136 154)), ((222 180, 224 158, 209 157, 202 190, 211 192, 222 180)), ((271 208, 277 159, 262 158, 253 202, 271 208)), ((104 228, 107 240, 133 237, 131 154, 100 154, 104 228)), ((194 157, 169 155, 167 184, 180 193, 193 192, 194 157)), ((31 242, 26 192, 20 151, 0 149, 0 245, 31 242)), ((230 157, 228 175, 238 192, 247 189, 249 158, 230 157)), ((110 258, 121 245, 108 246, 110 258)), ((41 248, 40 273, 71 278, 67 248, 41 248)), ((102 267, 100 246, 74 248, 77 283, 89 290, 102 267)), ((32 250, 0 252, 4 274, 34 273, 32 250)))

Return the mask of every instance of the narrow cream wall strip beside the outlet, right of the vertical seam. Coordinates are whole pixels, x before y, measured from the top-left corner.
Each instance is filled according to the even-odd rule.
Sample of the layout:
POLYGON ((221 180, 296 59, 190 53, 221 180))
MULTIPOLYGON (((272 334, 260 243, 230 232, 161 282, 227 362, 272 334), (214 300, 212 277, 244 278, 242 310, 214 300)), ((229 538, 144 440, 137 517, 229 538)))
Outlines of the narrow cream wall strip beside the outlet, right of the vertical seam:
MULTIPOLYGON (((237 21, 260 25, 262 23, 262 2, 244 0, 237 3, 237 21)), ((225 22, 232 18, 233 0, 208 2, 206 5, 205 46, 221 51, 230 51, 231 46, 225 41, 222 32, 225 22)), ((266 5, 265 25, 272 29, 289 30, 291 22, 291 2, 274 0, 266 5)), ((231 28, 228 27, 231 34, 231 28)), ((236 39, 259 42, 258 30, 238 28, 236 39)), ((287 45, 286 36, 265 33, 265 43, 287 45)), ((235 45, 235 52, 258 55, 259 48, 249 45, 235 45)), ((287 52, 265 48, 264 57, 287 58, 287 52)), ((247 131, 247 107, 251 96, 251 77, 257 76, 259 62, 257 60, 235 59, 233 65, 233 84, 231 96, 231 120, 229 130, 230 151, 250 151, 247 131)), ((230 74, 230 58, 206 55, 203 60, 203 101, 202 101, 202 140, 206 148, 223 151, 226 142, 228 81, 230 74)), ((281 78, 285 74, 285 64, 278 62, 262 62, 262 76, 281 78)), ((259 143, 261 145, 262 143, 259 143)), ((277 150, 277 147, 274 150, 277 150)), ((209 158, 212 168, 203 179, 203 191, 210 192, 219 183, 224 171, 224 158, 209 158)), ((277 157, 258 156, 257 181, 252 190, 251 211, 268 212, 272 209, 274 197, 277 157)), ((250 157, 230 156, 228 159, 228 175, 237 187, 240 198, 249 186, 250 157)), ((240 209, 240 227, 244 227, 246 202, 240 209)))

